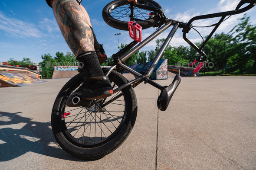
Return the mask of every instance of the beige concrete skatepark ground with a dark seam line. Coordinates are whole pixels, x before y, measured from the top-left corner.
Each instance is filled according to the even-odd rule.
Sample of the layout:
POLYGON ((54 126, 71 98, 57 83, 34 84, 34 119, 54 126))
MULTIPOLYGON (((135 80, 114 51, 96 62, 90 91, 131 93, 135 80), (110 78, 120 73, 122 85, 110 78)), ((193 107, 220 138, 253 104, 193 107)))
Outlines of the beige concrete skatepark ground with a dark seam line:
POLYGON ((159 90, 141 83, 132 133, 100 160, 72 157, 53 137, 51 109, 68 80, 0 88, 0 169, 256 169, 256 77, 182 77, 165 112, 159 90))

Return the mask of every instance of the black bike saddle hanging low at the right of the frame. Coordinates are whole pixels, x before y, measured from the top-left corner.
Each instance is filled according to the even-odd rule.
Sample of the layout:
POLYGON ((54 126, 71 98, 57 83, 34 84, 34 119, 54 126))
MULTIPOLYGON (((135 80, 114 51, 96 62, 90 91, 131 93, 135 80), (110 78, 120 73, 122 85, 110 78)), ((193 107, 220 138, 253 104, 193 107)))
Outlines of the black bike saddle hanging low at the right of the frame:
POLYGON ((170 86, 164 86, 161 90, 160 96, 158 96, 158 109, 165 111, 171 101, 175 90, 181 83, 181 76, 176 75, 170 86))

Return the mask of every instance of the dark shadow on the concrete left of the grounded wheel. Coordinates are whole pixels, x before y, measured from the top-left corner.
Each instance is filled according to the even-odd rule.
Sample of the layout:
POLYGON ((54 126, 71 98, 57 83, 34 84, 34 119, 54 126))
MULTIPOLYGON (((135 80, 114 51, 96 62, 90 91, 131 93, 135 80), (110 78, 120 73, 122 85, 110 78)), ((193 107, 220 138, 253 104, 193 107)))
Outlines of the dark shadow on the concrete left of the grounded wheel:
POLYGON ((64 160, 92 161, 75 158, 62 150, 53 136, 51 122, 33 122, 19 113, 0 112, 0 161, 12 160, 27 152, 64 160))

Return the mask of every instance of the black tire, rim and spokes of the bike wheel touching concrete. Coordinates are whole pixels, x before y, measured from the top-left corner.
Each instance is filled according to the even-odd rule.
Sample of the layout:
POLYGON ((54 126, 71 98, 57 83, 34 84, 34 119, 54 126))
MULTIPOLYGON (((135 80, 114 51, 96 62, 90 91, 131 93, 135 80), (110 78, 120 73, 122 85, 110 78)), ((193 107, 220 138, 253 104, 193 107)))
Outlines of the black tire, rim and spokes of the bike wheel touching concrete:
MULTIPOLYGON (((103 69, 103 71, 106 72, 107 70, 103 69)), ((137 99, 136 99, 135 92, 134 92, 132 86, 128 86, 128 87, 122 89, 120 94, 124 98, 124 103, 125 103, 124 108, 125 109, 124 109, 123 117, 121 118, 120 125, 118 126, 118 128, 116 128, 115 132, 113 132, 110 136, 106 137, 104 140, 102 140, 102 137, 101 137, 101 141, 98 143, 96 143, 95 141, 94 141, 94 143, 93 142, 86 143, 86 142, 84 142, 84 138, 83 138, 83 142, 75 141, 75 139, 76 139, 75 135, 72 137, 72 135, 71 135, 72 131, 66 127, 67 124, 66 124, 65 120, 69 116, 67 116, 66 118, 62 118, 62 116, 63 116, 63 112, 65 112, 65 109, 67 107, 65 105, 65 101, 66 101, 67 97, 72 93, 72 91, 74 91, 77 87, 79 87, 80 84, 82 84, 81 80, 83 80, 83 78, 82 78, 83 76, 84 76, 84 73, 77 74, 75 77, 70 79, 64 85, 64 87, 62 87, 62 89, 60 90, 58 96, 56 97, 56 100, 53 105, 51 124, 52 124, 53 135, 54 135, 57 143, 59 144, 59 146, 64 151, 66 151, 67 153, 71 154, 72 156, 80 158, 80 159, 96 159, 96 158, 104 157, 105 155, 110 154, 112 151, 115 151, 115 149, 117 149, 125 141, 125 139, 128 138, 128 135, 130 134, 133 126, 135 125, 135 120, 136 120, 136 116, 137 116, 137 99), (63 122, 65 124, 63 124, 63 122), (68 132, 70 133, 70 135, 67 134, 68 132)), ((108 77, 112 83, 116 83, 117 87, 120 87, 121 85, 128 82, 128 80, 123 75, 119 74, 117 71, 112 71, 108 77)), ((116 93, 116 94, 118 94, 118 93, 116 93)), ((115 94, 113 94, 112 96, 114 97, 114 95, 115 94)), ((112 96, 110 96, 108 98, 111 98, 112 96)), ((116 102, 116 100, 115 100, 115 102, 116 102)), ((112 103, 114 103, 114 102, 112 102, 112 103)), ((111 108, 111 105, 110 106, 107 105, 107 106, 111 108)), ((118 105, 118 107, 119 107, 119 105, 118 105)), ((88 111, 88 109, 87 109, 87 111, 88 111)), ((110 114, 110 111, 108 113, 110 114)), ((92 117, 93 114, 97 115, 98 112, 91 112, 89 114, 91 114, 91 117, 92 117)), ((101 114, 102 113, 100 113, 100 111, 99 111, 99 115, 101 115, 101 114)), ((75 115, 73 115, 73 116, 75 116, 75 115)), ((102 114, 102 116, 103 116, 103 114, 102 114)), ((108 117, 108 116, 106 116, 106 117, 108 117)), ((85 115, 84 119, 86 122, 86 115, 85 115)), ((97 118, 95 116, 95 133, 96 133, 96 119, 97 118)), ((109 121, 107 122, 106 120, 100 119, 100 121, 102 123, 104 121, 105 123, 110 124, 110 122, 111 122, 110 119, 109 119, 110 122, 109 121)), ((98 124, 98 122, 97 122, 97 124, 98 124)), ((82 125, 85 125, 85 123, 82 125)), ((81 127, 82 127, 82 125, 81 125, 81 127)), ((78 127, 76 129, 78 129, 78 127)), ((101 124, 101 126, 98 125, 97 127, 100 127, 100 131, 102 133, 103 125, 101 124)), ((110 128, 110 127, 108 127, 108 128, 110 128)), ((79 129, 77 130, 77 132, 79 132, 79 129)), ((84 129, 85 129, 85 126, 84 126, 84 129)), ((85 131, 83 133, 85 134, 85 131)), ((91 122, 90 122, 90 135, 91 135, 91 122)), ((90 136, 90 138, 91 138, 91 136, 90 136)), ((96 135, 94 138, 96 139, 96 135)), ((97 137, 97 139, 98 138, 100 138, 100 137, 97 137)), ((88 140, 88 137, 87 137, 87 140, 88 140)))

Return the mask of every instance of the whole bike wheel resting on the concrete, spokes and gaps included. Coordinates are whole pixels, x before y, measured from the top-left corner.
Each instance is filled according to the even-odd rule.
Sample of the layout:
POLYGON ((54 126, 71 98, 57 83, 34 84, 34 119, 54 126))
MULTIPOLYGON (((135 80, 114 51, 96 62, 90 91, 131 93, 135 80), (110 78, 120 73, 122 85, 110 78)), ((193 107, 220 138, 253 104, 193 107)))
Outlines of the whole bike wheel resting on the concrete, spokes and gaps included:
MULTIPOLYGON (((83 76, 77 74, 60 90, 53 106, 52 129, 64 151, 80 159, 96 159, 117 149, 128 137, 135 125, 137 100, 129 86, 97 103, 92 100, 90 108, 66 106, 69 95, 82 85, 83 76)), ((128 82, 116 71, 108 78, 113 89, 128 82)))

